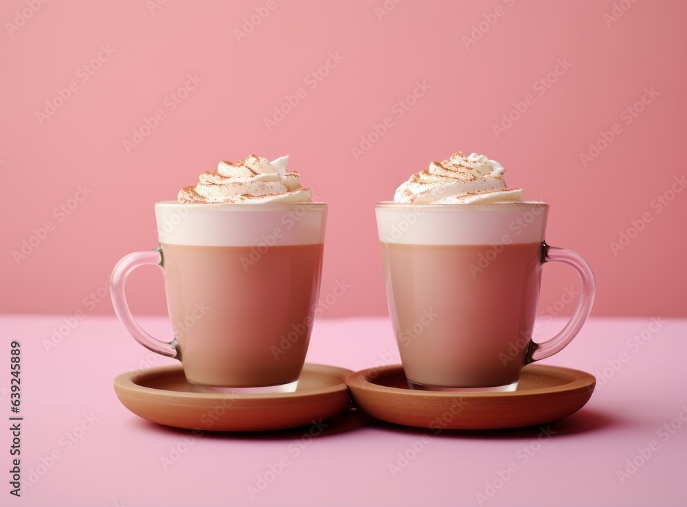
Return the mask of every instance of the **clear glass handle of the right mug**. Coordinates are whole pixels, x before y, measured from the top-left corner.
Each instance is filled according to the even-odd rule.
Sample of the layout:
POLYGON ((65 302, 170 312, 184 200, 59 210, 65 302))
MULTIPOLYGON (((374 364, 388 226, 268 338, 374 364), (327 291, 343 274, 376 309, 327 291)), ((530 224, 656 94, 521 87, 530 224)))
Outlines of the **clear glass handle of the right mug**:
POLYGON ((585 322, 587 322, 589 314, 592 313, 594 293, 596 293, 596 282, 594 280, 592 268, 589 267, 587 261, 584 260, 580 254, 572 250, 550 247, 546 243, 542 243, 541 262, 542 266, 546 262, 564 262, 565 264, 570 264, 570 266, 574 267, 575 271, 577 271, 577 274, 580 275, 582 289, 580 291, 580 300, 577 303, 577 308, 575 308, 572 317, 570 317, 570 320, 565 324, 561 333, 542 343, 534 343, 534 341, 530 339, 523 364, 534 363, 534 361, 552 356, 556 354, 556 352, 561 352, 577 333, 580 332, 585 322))

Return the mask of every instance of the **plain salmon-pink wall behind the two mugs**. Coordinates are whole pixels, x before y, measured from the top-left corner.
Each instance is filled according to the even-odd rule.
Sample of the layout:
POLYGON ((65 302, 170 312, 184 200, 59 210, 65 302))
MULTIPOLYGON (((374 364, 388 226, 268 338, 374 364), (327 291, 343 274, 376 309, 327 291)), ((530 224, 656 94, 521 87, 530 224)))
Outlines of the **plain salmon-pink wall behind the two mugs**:
MULTIPOLYGON (((330 204, 322 295, 337 282, 350 288, 325 316, 385 315, 374 203, 464 150, 500 161, 510 186, 551 204, 548 243, 579 251, 596 273, 594 315, 687 315, 687 192, 677 183, 687 3, 403 1, 389 12, 383 0, 151 3, 0 8, 0 312, 111 314, 114 264, 155 247, 153 203, 221 159, 256 153, 291 155, 330 204), (269 14, 238 40, 256 9, 269 14), (330 54, 342 59, 321 81, 308 78, 330 54), (565 70, 550 74, 559 62, 565 70), (189 74, 201 82, 172 111, 189 74), (537 84, 547 76, 552 84, 537 84), (417 82, 429 89, 399 117, 395 104, 417 82), (633 117, 627 108, 642 95, 633 117), (39 120, 46 101, 59 107, 39 120), (159 110, 157 128, 127 151, 159 110), (516 120, 497 135, 508 113, 516 120), (393 126, 354 156, 385 117, 393 126), (583 164, 599 139, 604 149, 583 164), (613 251, 622 234, 631 240, 613 251), (34 246, 15 258, 24 241, 34 246)), ((546 269, 541 312, 570 313, 561 295, 574 283, 564 267, 546 269)), ((136 313, 165 313, 156 269, 139 270, 129 289, 136 313)))

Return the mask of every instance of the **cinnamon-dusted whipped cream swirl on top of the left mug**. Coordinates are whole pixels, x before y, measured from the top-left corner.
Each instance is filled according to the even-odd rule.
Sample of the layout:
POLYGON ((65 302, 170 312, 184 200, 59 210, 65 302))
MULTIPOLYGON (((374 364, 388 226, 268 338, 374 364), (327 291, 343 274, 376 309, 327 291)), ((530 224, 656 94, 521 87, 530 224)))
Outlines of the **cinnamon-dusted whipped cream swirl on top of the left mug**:
POLYGON ((202 172, 194 187, 179 190, 180 203, 311 203, 313 189, 286 170, 289 157, 267 161, 248 155, 236 164, 221 161, 216 171, 202 172))

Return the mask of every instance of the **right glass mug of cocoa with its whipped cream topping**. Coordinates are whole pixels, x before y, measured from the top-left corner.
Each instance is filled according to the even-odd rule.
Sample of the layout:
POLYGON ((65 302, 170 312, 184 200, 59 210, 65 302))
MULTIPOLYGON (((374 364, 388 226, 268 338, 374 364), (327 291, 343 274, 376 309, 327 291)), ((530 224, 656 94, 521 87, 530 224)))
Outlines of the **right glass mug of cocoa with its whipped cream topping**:
POLYGON ((513 391, 523 366, 559 352, 592 310, 589 265, 544 243, 548 204, 521 201, 503 172, 458 152, 376 205, 387 301, 412 389, 513 391), (546 262, 572 265, 582 289, 561 333, 535 343, 546 262))

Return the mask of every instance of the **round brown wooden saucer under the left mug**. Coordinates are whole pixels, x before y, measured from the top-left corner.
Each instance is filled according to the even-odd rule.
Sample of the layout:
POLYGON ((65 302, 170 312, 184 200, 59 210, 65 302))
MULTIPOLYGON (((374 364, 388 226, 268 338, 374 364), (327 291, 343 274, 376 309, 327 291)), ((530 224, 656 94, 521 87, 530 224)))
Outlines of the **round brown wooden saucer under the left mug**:
POLYGON ((204 394, 188 388, 181 365, 117 376, 115 393, 137 416, 195 431, 264 431, 306 426, 350 406, 344 368, 306 364, 295 392, 204 394))

